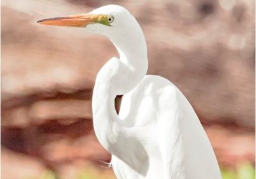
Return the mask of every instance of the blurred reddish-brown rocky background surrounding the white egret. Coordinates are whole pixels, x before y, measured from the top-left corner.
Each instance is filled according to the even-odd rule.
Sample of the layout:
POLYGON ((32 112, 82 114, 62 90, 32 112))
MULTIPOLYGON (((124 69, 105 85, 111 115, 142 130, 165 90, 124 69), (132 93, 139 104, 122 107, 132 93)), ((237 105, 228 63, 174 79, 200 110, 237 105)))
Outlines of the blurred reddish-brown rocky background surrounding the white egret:
POLYGON ((92 127, 92 88, 118 56, 82 28, 36 20, 125 6, 148 45, 148 74, 195 108, 223 178, 255 176, 255 1, 2 0, 1 178, 115 178, 92 127))

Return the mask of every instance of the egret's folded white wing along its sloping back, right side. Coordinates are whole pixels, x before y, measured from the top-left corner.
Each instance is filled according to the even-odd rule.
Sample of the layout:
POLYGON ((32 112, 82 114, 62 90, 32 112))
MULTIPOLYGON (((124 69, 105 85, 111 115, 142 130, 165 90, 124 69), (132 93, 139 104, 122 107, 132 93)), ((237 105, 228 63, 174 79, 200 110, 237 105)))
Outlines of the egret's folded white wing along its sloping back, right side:
POLYGON ((158 113, 165 177, 220 179, 216 156, 198 116, 171 82, 159 89, 158 113))

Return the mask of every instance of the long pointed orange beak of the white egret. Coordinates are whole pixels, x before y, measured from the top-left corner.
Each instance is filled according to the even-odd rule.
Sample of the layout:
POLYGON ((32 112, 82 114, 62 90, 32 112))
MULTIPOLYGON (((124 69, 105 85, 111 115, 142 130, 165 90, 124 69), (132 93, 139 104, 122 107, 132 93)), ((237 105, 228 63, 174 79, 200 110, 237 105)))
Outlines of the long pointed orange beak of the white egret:
POLYGON ((83 13, 78 15, 68 15, 66 17, 55 17, 50 19, 38 20, 40 24, 50 26, 86 27, 88 24, 97 22, 99 15, 83 13))

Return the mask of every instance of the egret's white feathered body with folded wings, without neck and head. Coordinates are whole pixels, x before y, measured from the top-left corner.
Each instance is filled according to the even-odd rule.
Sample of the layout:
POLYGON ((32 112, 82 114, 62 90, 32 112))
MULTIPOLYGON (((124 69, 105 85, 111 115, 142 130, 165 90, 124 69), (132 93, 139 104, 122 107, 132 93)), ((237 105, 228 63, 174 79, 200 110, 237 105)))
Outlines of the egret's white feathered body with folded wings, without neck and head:
POLYGON ((146 75, 124 95, 118 116, 121 157, 111 160, 117 178, 220 178, 204 128, 172 82, 146 75))

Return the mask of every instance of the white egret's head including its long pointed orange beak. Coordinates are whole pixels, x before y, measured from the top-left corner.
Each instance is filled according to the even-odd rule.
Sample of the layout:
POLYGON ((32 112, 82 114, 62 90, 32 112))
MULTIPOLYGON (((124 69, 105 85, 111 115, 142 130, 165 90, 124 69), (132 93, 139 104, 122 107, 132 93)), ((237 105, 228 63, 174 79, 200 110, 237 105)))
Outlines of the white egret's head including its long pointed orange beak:
POLYGON ((51 26, 84 27, 89 31, 111 35, 125 27, 124 19, 131 19, 132 15, 122 6, 108 5, 93 10, 90 13, 68 15, 38 20, 40 24, 51 26))

